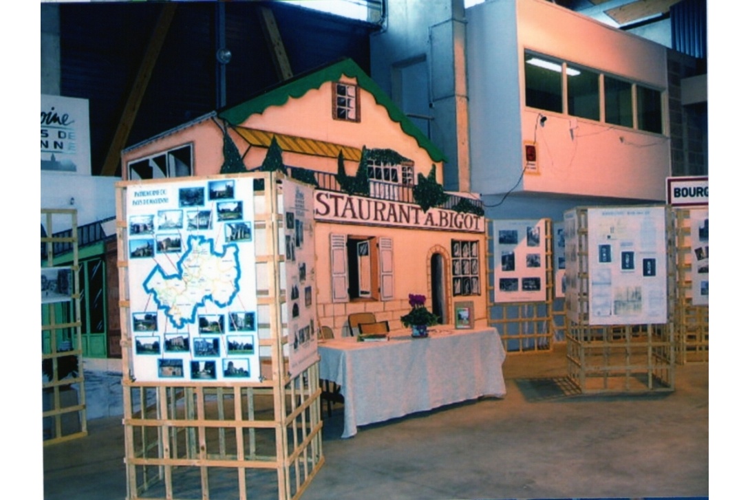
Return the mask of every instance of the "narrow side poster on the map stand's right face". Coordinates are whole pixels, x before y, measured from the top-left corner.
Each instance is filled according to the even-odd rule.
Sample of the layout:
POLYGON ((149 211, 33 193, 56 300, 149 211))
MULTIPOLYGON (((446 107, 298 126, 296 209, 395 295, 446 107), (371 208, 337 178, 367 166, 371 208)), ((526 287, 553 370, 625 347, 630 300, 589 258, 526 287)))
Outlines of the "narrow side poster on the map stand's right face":
POLYGON ((289 371, 296 377, 318 361, 315 303, 315 243, 312 187, 284 180, 284 267, 286 268, 289 371))

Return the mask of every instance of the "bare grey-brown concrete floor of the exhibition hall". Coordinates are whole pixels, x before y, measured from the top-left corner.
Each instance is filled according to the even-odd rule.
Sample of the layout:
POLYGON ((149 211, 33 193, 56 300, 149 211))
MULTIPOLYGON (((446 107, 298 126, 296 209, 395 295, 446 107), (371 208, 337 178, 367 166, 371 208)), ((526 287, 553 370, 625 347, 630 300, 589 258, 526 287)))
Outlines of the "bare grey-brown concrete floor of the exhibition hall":
MULTIPOLYGON (((508 394, 362 427, 324 420, 326 463, 302 495, 329 499, 707 498, 709 368, 676 368, 673 393, 565 396, 564 346, 508 355, 508 394)), ((44 499, 125 498, 121 418, 44 448, 44 499)))

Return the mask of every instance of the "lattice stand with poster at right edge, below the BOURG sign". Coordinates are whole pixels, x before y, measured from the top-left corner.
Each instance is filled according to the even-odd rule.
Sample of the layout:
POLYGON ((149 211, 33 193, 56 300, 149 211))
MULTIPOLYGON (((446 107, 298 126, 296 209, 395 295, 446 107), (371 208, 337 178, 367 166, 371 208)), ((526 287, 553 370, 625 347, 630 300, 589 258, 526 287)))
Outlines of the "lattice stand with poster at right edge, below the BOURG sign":
POLYGON ((676 232, 673 259, 677 263, 677 362, 707 363, 708 209, 673 208, 673 211, 676 232))

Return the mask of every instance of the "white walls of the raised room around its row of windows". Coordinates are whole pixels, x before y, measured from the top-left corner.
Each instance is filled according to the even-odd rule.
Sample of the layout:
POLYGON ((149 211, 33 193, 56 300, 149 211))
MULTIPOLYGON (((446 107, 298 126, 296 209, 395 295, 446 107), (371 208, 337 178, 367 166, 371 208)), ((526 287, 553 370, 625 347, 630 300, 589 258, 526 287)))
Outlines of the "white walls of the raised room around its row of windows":
POLYGON ((524 49, 664 89, 663 46, 547 1, 487 1, 466 13, 472 190, 514 189, 523 142, 535 141, 539 174, 523 175, 516 190, 664 200, 668 136, 547 111, 541 127, 540 111, 523 106, 524 49))

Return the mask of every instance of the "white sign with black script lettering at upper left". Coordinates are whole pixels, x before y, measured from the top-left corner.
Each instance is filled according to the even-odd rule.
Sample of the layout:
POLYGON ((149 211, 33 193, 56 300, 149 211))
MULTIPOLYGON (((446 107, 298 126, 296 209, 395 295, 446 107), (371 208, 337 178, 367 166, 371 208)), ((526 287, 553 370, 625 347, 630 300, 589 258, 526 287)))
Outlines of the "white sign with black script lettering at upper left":
POLYGON ((40 114, 41 169, 91 175, 89 100, 41 94, 40 114))

